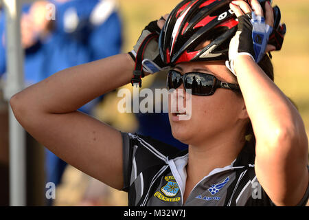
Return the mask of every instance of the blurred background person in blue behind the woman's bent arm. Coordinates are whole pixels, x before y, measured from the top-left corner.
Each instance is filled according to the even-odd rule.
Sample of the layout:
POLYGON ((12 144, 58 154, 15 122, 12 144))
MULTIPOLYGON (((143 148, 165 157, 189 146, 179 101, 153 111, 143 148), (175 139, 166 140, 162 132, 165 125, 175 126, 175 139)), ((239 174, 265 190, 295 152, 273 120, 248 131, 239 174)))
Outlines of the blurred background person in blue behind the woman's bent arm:
MULTIPOLYGON (((25 86, 38 83, 62 69, 119 54, 122 46, 122 23, 116 6, 117 3, 113 0, 53 0, 23 5, 21 44, 25 51, 25 86)), ((5 81, 3 13, 0 14, 0 39, 0 76, 3 75, 5 81)), ((93 109, 101 100, 102 97, 97 98, 79 110, 92 115, 93 109)), ((35 158, 31 148, 37 145, 34 142, 27 135, 27 155, 32 157, 28 157, 28 165, 36 163, 32 161, 35 158)), ((58 185, 65 166, 65 162, 45 150, 46 182, 58 185)), ((33 170, 27 171, 27 177, 30 177, 33 170)), ((37 177, 42 170, 34 173, 37 177)), ((27 185, 33 187, 35 184, 28 182, 27 185)), ((52 200, 48 200, 49 204, 50 201, 52 200)))

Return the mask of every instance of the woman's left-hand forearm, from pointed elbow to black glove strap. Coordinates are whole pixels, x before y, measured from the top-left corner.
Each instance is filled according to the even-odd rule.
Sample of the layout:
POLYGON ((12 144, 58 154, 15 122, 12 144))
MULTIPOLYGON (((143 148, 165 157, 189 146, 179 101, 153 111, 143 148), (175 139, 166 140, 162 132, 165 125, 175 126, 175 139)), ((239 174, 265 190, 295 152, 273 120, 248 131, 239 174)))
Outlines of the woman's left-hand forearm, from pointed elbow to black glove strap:
POLYGON ((19 92, 11 104, 42 113, 69 113, 87 102, 130 83, 134 63, 128 54, 62 70, 19 92))

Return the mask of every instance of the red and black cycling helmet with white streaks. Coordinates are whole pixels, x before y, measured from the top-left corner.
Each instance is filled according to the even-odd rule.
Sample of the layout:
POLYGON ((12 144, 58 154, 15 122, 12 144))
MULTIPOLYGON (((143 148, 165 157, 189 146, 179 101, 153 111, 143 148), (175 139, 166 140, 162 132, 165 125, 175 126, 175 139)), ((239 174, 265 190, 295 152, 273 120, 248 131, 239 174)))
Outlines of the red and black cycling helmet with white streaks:
POLYGON ((172 10, 160 34, 164 63, 227 61, 229 42, 238 20, 229 8, 232 0, 184 0, 172 10), (201 43, 210 41, 203 48, 201 43))

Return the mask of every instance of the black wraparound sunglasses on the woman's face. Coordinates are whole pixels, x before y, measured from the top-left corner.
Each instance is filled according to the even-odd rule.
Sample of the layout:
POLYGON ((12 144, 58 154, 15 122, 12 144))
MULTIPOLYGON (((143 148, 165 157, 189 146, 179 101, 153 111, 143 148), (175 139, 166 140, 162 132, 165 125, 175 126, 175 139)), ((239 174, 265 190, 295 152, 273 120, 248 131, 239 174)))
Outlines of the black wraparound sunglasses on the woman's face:
POLYGON ((240 92, 239 85, 222 82, 211 74, 190 72, 182 76, 180 72, 173 69, 168 72, 168 79, 166 80, 168 90, 177 89, 182 83, 185 91, 192 89, 191 94, 196 96, 211 96, 218 88, 240 92))

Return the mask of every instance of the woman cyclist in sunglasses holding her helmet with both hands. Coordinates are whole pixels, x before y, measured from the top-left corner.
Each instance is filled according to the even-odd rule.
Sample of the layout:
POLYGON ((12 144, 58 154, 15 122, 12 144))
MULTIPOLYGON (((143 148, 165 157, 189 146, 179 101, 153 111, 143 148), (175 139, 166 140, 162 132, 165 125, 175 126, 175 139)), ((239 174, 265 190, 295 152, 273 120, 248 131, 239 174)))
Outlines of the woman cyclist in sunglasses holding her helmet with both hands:
MULTIPOLYGON (((167 19, 160 52, 164 63, 172 66, 168 87, 176 89, 176 94, 192 89, 191 119, 179 120, 180 114, 186 114, 181 109, 169 113, 172 133, 189 145, 187 151, 178 152, 151 137, 121 133, 76 111, 93 98, 129 83, 138 66, 133 62, 134 53, 66 69, 21 91, 10 100, 14 115, 38 142, 66 162, 129 192, 130 206, 306 204, 308 140, 304 123, 268 77, 271 68, 264 56, 274 24, 271 4, 265 4, 266 25, 261 22, 263 10, 257 0, 230 2, 182 1, 168 19, 158 21, 163 28, 167 19), (201 10, 204 13, 198 13, 201 10), (232 11, 239 19, 238 32, 232 11), (180 31, 180 27, 191 26, 189 21, 186 24, 188 17, 198 18, 196 26, 187 29, 188 33, 186 28, 180 31), (178 54, 186 43, 179 40, 182 36, 194 36, 209 25, 227 29, 218 38, 212 32, 205 39, 196 38, 194 48, 178 54), (257 28, 264 28, 264 34, 256 38, 264 41, 253 43, 257 28), (232 32, 236 34, 231 40, 232 32), (231 40, 230 46, 222 39, 231 40), (228 58, 224 49, 229 49, 228 58), (196 57, 196 62, 188 62, 196 57), (225 66, 227 59, 237 78, 225 66), (201 87, 192 87, 193 76, 200 79, 201 87), (218 80, 222 83, 215 83, 218 80), (251 126, 254 137, 247 142, 245 135, 251 126)), ((267 51, 271 50, 275 47, 268 45, 267 51)), ((138 54, 137 50, 136 60, 140 60, 138 54)), ((133 83, 140 83, 138 77, 136 74, 133 83)), ((179 98, 187 96, 183 93, 179 98)))

